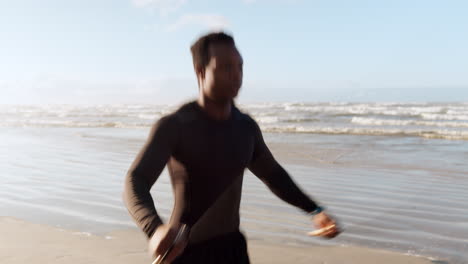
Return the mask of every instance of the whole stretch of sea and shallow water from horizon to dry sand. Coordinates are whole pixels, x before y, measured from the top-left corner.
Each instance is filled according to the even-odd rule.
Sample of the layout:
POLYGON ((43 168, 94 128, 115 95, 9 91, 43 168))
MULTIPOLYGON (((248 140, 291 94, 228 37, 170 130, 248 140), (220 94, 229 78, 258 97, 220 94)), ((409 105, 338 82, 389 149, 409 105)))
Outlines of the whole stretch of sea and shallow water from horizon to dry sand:
MULTIPOLYGON (((96 234, 135 228, 123 178, 150 126, 178 105, 0 105, 0 212, 96 234)), ((248 170, 249 239, 359 245, 468 263, 468 103, 238 104, 294 181, 344 227, 312 222, 248 170)), ((168 219, 164 171, 152 189, 168 219)), ((438 262, 443 263, 443 262, 438 262)))

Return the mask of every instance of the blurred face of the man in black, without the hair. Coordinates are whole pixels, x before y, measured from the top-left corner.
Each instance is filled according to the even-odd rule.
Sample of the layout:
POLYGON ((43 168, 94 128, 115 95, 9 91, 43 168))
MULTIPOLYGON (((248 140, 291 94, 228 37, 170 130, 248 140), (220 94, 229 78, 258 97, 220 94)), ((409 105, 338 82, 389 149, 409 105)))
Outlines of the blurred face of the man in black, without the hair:
POLYGON ((211 45, 209 52, 202 92, 214 101, 230 101, 242 85, 242 57, 235 46, 228 44, 211 45))

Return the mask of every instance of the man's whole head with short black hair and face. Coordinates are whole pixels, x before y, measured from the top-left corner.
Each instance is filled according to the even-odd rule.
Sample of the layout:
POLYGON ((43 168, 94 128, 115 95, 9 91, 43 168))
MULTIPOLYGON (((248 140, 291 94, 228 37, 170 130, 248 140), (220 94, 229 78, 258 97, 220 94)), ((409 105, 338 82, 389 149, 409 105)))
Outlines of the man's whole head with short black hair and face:
POLYGON ((242 85, 242 57, 223 33, 200 37, 190 48, 200 92, 214 101, 232 100, 242 85))

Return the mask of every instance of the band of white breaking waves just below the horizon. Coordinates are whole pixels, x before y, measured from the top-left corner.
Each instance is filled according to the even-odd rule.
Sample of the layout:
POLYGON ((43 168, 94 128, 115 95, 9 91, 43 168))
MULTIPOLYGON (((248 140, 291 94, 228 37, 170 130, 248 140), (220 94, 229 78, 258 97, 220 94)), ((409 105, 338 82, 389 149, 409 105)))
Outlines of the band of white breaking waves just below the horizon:
MULTIPOLYGON (((0 126, 145 128, 176 106, 2 105, 0 126)), ((468 140, 468 103, 239 105, 265 132, 468 140)))

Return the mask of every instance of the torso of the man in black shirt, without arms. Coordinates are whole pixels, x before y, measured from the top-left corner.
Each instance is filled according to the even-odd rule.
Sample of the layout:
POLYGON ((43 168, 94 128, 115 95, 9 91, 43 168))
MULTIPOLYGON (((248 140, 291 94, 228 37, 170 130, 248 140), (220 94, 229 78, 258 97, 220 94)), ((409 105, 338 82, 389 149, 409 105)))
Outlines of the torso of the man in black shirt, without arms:
POLYGON ((243 172, 254 151, 253 121, 236 107, 229 120, 216 121, 196 102, 171 118, 178 124, 168 162, 176 199, 173 220, 191 226, 189 243, 237 230, 243 172))

